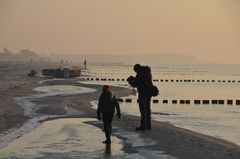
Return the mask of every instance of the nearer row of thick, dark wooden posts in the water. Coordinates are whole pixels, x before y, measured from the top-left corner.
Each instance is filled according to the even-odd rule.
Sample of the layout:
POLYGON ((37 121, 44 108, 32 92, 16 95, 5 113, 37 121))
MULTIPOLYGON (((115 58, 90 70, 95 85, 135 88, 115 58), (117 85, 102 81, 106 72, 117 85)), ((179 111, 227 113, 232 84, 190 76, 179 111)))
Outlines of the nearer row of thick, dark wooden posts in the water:
MULTIPOLYGON (((131 98, 126 98, 126 99, 122 99, 122 98, 118 98, 117 99, 119 102, 126 102, 126 103, 132 103, 133 102, 133 99, 131 98)), ((167 100, 167 99, 164 99, 164 100, 159 100, 159 99, 153 99, 152 100, 153 103, 162 103, 162 104, 185 104, 185 105, 188 105, 188 104, 195 104, 195 105, 209 105, 209 104, 212 104, 212 105, 224 105, 225 103, 227 105, 240 105, 240 100, 217 100, 217 99, 213 99, 213 100, 167 100)))

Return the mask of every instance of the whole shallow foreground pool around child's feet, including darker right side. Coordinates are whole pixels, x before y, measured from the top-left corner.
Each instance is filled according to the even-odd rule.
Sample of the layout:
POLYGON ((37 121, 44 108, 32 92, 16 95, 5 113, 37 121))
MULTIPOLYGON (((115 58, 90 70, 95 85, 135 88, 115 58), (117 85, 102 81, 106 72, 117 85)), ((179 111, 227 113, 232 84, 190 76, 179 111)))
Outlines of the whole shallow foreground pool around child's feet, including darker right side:
POLYGON ((142 139, 134 132, 126 132, 116 127, 113 128, 114 135, 124 138, 124 142, 132 145, 134 151, 125 153, 123 141, 114 136, 112 144, 106 146, 102 143, 105 139, 104 133, 94 126, 95 124, 101 122, 92 118, 68 118, 44 122, 34 131, 0 149, 0 158, 176 159, 163 152, 147 149, 146 147, 155 145, 152 140, 142 139))

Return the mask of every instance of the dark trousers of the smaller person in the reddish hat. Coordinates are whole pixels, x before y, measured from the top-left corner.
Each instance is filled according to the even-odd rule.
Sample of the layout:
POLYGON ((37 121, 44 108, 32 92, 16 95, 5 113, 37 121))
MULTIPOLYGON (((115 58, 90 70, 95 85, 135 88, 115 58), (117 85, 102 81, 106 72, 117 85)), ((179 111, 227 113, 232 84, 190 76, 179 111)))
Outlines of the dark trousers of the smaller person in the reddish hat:
POLYGON ((113 113, 103 113, 103 126, 107 140, 110 140, 112 134, 113 113))

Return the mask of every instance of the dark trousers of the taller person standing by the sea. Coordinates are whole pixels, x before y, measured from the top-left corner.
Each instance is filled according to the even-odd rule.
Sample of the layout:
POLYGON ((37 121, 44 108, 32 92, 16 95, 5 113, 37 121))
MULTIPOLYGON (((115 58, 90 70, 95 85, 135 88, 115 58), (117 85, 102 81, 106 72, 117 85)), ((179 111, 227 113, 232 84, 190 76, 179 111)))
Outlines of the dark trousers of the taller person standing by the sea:
POLYGON ((151 128, 151 98, 138 99, 141 113, 141 127, 151 128))

